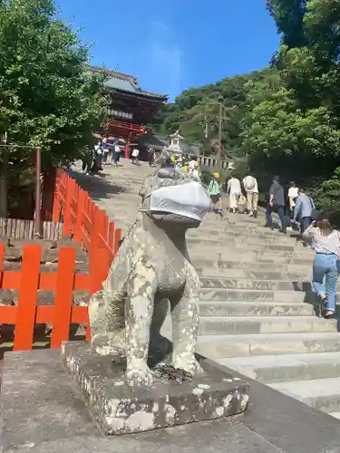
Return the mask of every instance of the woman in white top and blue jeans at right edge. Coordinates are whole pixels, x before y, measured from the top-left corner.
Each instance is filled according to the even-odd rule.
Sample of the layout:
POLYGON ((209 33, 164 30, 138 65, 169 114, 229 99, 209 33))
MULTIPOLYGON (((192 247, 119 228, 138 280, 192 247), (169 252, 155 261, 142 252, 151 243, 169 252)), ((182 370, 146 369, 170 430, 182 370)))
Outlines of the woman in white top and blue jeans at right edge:
POLYGON ((336 283, 339 275, 340 233, 327 216, 321 216, 308 226, 304 236, 309 237, 316 252, 313 265, 313 285, 321 300, 321 313, 326 319, 335 313, 336 283), (325 278, 325 284, 324 284, 325 278))

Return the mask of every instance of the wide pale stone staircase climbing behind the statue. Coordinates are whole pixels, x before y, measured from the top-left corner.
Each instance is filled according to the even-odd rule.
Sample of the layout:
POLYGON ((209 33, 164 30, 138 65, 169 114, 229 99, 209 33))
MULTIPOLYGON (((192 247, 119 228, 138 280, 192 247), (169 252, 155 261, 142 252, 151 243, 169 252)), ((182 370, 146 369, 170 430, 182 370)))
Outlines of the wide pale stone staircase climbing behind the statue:
MULTIPOLYGON (((150 171, 125 160, 105 178, 77 178, 124 235, 150 171)), ((189 232, 202 282, 197 352, 340 418, 339 326, 316 315, 313 253, 263 225, 263 215, 209 214, 189 232)))

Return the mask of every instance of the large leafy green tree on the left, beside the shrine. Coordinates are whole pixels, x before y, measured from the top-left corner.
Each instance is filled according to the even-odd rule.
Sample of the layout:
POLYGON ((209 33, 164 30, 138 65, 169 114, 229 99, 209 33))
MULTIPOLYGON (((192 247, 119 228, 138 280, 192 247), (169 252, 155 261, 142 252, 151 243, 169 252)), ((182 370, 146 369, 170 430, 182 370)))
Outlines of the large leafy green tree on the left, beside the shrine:
POLYGON ((103 118, 103 76, 89 71, 88 47, 57 18, 53 0, 0 2, 0 54, 0 137, 10 145, 3 182, 7 160, 13 178, 32 166, 29 147, 42 147, 43 168, 78 157, 103 118))

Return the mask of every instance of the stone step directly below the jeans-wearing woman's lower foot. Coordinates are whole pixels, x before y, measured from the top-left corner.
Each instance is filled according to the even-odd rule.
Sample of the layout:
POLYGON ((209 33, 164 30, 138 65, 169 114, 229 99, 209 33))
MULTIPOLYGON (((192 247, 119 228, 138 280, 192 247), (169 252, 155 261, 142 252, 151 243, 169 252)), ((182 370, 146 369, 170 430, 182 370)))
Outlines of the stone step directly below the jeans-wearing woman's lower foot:
MULTIPOLYGON (((201 316, 199 335, 337 332, 336 320, 316 316, 201 316)), ((340 335, 339 335, 340 341, 340 335)))

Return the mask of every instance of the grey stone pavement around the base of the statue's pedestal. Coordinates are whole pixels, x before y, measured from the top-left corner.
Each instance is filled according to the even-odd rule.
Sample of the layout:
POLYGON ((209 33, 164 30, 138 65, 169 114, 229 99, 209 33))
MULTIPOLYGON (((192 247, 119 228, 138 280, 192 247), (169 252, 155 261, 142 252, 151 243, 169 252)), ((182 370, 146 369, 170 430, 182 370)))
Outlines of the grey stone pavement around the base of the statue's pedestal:
POLYGON ((74 391, 60 356, 58 350, 5 355, 0 401, 3 453, 340 451, 339 420, 258 381, 250 382, 248 410, 236 418, 104 438, 74 391))

